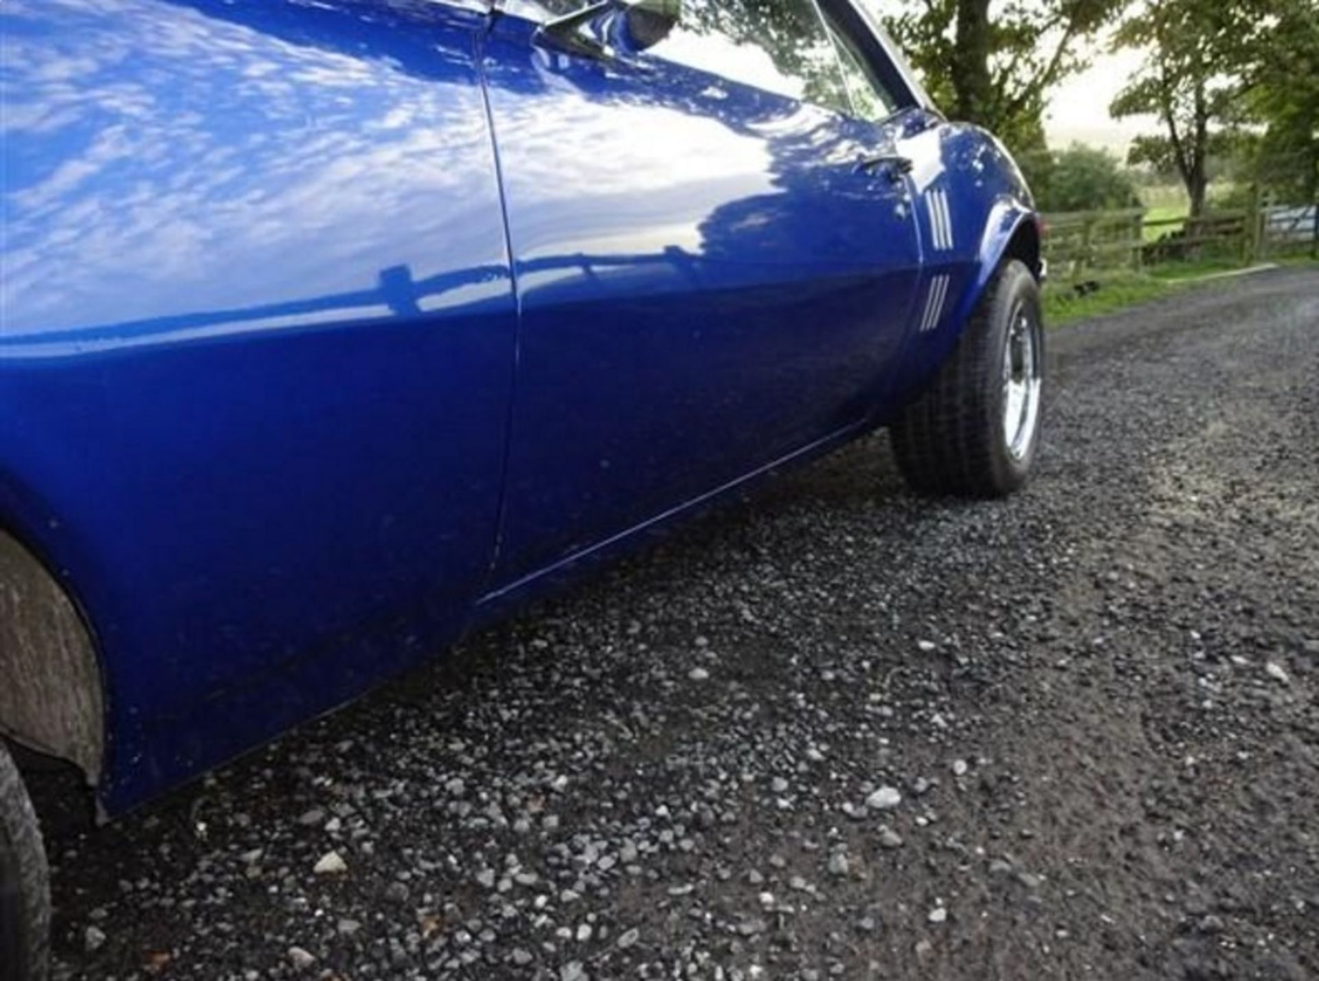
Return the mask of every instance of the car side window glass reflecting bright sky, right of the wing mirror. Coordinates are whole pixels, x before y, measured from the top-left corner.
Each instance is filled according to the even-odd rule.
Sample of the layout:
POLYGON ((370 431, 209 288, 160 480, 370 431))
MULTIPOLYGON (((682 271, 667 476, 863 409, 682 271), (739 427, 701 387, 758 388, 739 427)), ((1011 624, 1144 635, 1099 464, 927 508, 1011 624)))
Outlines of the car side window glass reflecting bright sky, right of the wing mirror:
POLYGON ((682 24, 650 54, 798 102, 851 111, 815 0, 685 0, 682 24))

